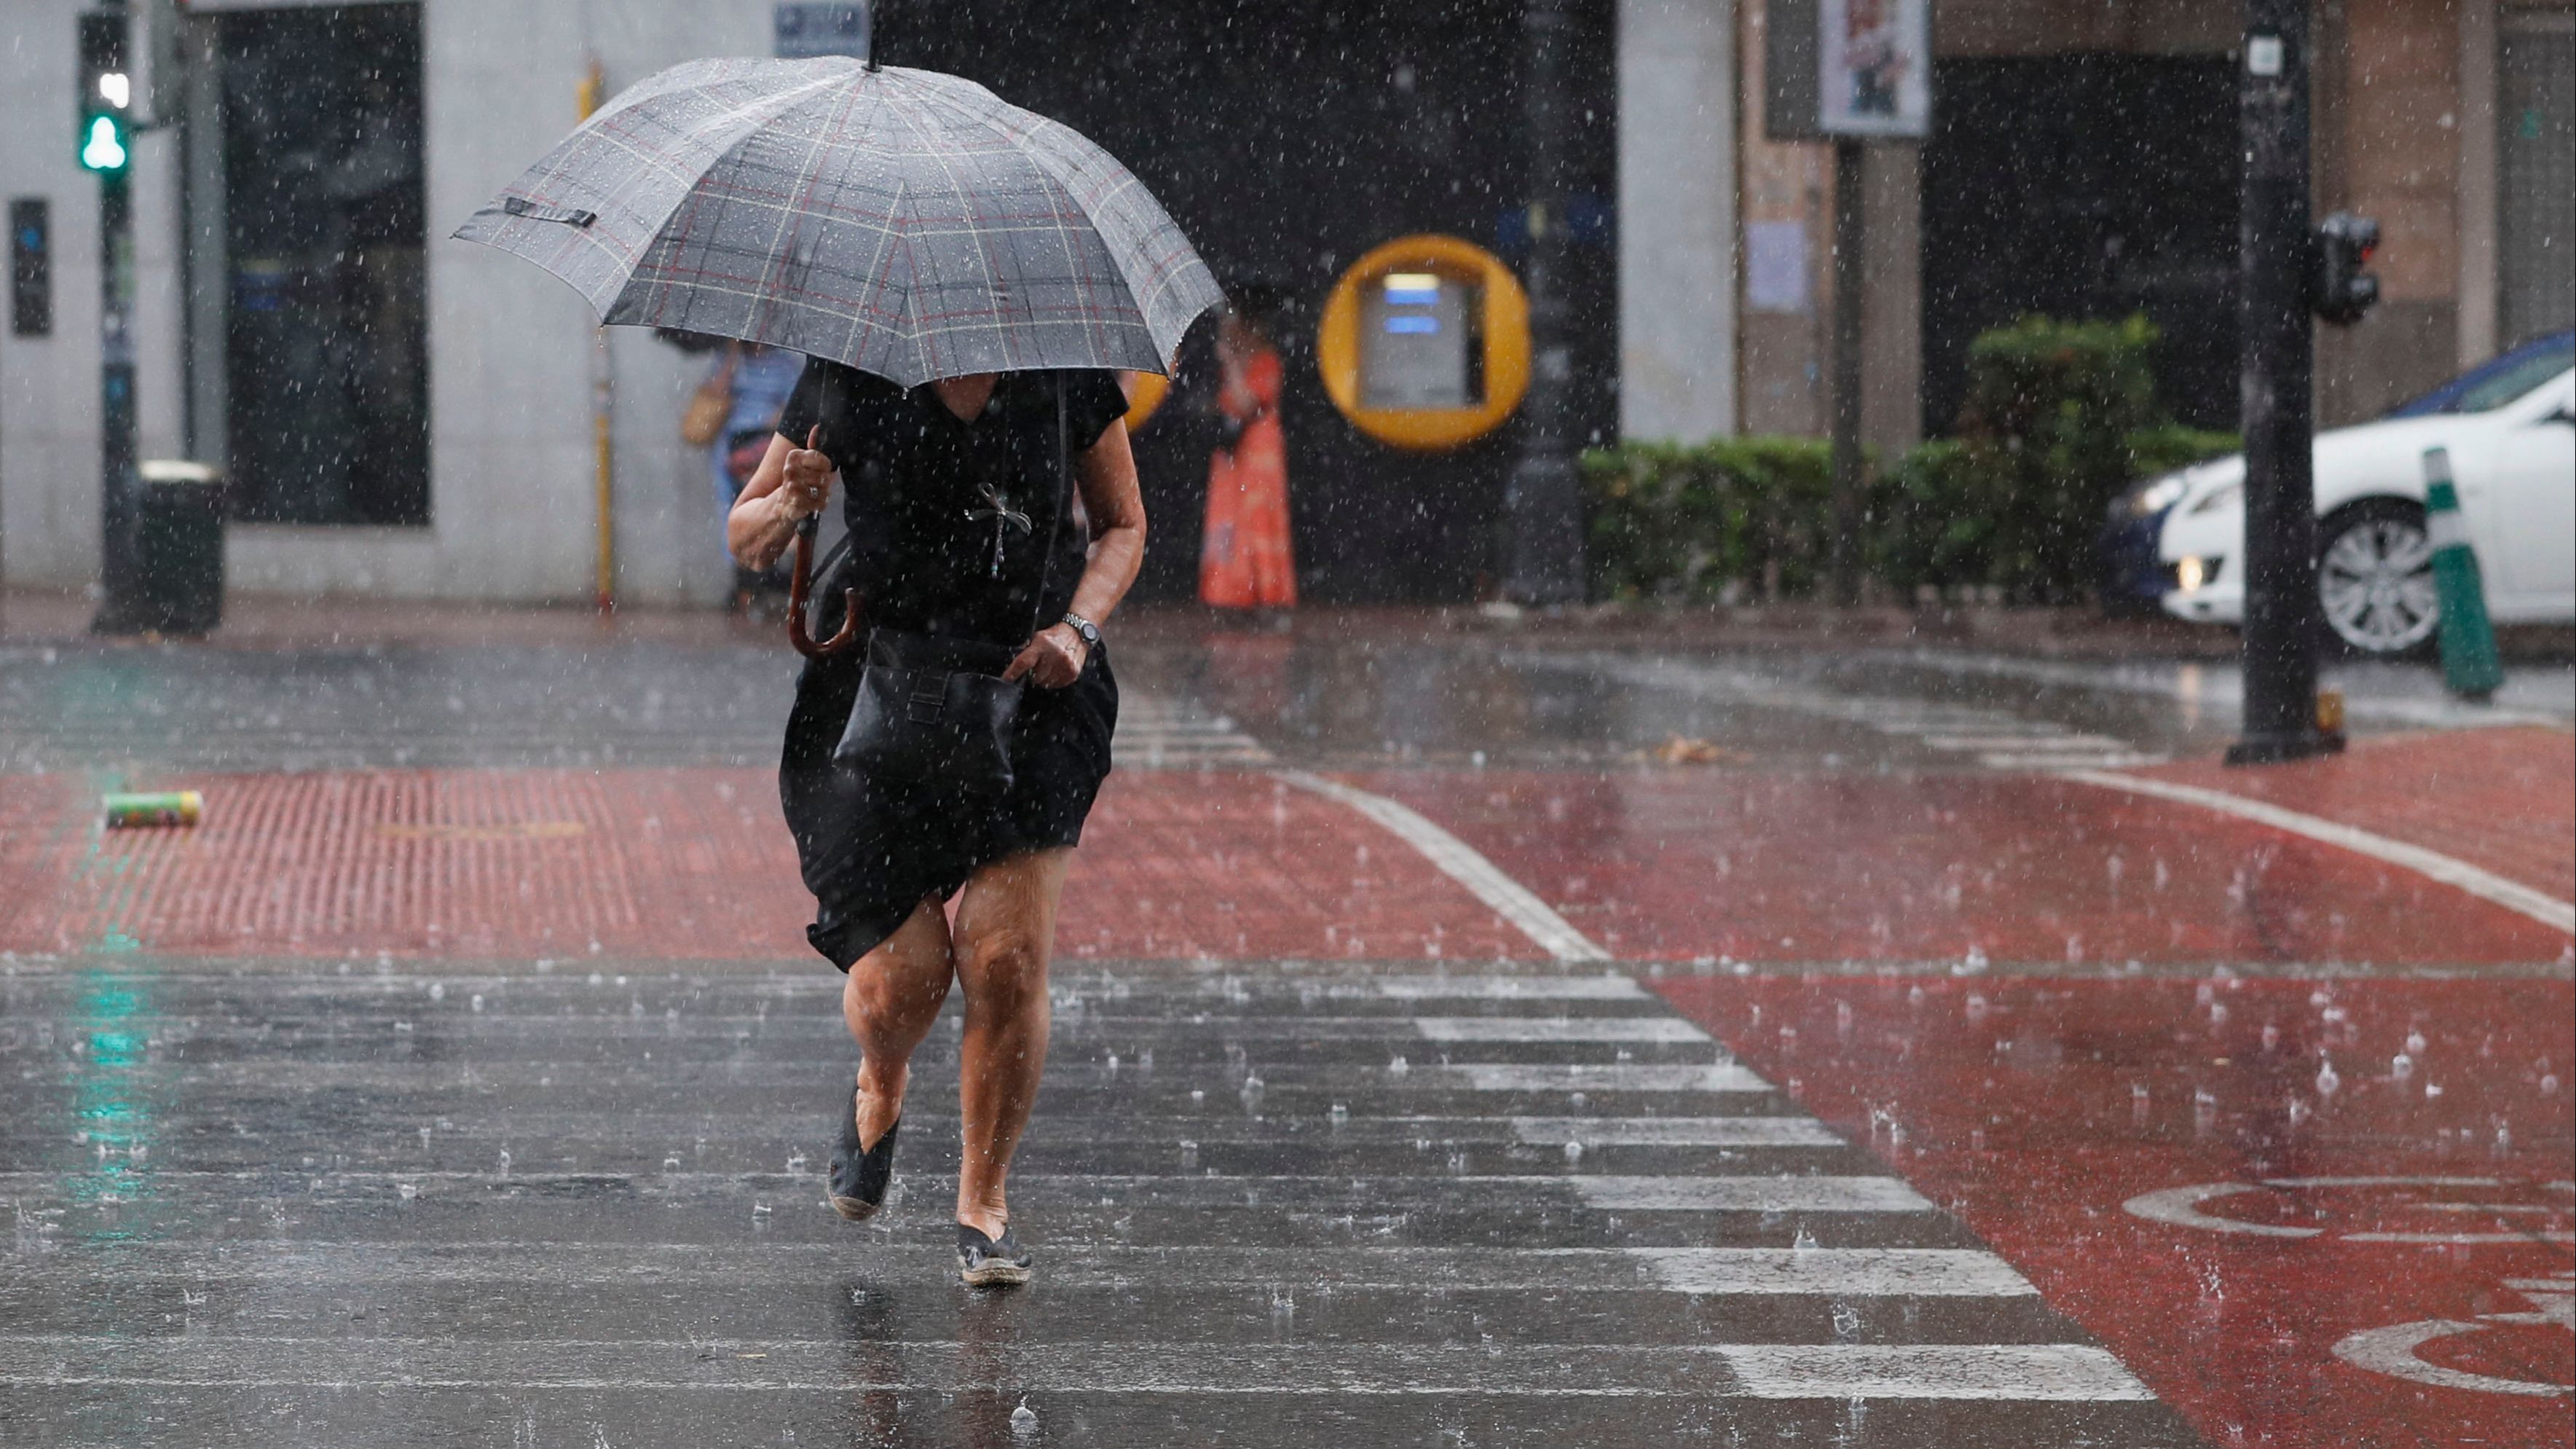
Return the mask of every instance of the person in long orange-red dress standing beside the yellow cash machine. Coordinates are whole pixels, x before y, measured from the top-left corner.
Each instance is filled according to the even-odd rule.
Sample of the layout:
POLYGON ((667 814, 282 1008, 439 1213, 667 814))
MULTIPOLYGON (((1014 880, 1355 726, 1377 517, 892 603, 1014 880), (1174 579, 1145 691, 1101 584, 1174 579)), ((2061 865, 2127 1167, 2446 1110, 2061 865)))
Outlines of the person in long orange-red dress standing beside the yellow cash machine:
POLYGON ((1198 598, 1216 608, 1296 603, 1280 433, 1285 366, 1265 333, 1273 315, 1265 289, 1244 289, 1216 330, 1216 407, 1231 441, 1208 456, 1208 531, 1198 552, 1198 598))

